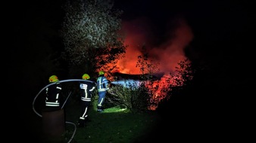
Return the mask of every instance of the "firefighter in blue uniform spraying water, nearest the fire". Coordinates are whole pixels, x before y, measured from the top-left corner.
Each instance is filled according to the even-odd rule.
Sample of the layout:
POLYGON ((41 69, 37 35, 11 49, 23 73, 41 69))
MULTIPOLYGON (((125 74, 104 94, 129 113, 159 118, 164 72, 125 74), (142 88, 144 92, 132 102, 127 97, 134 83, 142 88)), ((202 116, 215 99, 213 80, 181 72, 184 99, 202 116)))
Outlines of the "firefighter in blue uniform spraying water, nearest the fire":
POLYGON ((98 72, 98 79, 97 79, 97 88, 98 88, 98 105, 97 105, 97 111, 101 112, 103 110, 103 103, 105 102, 105 96, 108 88, 108 79, 105 77, 104 71, 98 72))

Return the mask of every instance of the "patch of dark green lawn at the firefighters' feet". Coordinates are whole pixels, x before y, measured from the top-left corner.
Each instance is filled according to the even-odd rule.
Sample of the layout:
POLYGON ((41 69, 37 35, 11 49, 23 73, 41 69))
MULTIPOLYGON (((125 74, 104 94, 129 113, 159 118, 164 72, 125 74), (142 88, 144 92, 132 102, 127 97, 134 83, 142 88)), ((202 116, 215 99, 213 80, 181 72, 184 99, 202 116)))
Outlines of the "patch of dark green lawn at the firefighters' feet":
MULTIPOLYGON (((72 124, 66 124, 65 142, 72 138, 74 131, 70 142, 138 142, 151 132, 158 120, 154 112, 135 114, 119 106, 105 108, 104 112, 99 113, 96 111, 96 102, 92 103, 89 110, 90 122, 86 123, 85 127, 76 128, 72 124)), ((67 121, 77 125, 80 116, 79 104, 67 105, 65 114, 67 121)))

